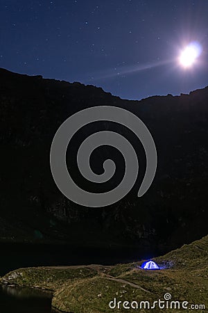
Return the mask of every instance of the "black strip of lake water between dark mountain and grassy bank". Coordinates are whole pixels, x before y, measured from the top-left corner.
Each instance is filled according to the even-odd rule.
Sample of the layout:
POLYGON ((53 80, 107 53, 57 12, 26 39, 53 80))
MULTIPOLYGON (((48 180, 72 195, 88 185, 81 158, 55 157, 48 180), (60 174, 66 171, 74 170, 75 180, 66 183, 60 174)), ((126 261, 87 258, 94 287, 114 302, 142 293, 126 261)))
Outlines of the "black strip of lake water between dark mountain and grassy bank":
POLYGON ((52 265, 111 265, 150 259, 151 253, 141 248, 82 248, 44 244, 0 243, 0 275, 21 267, 52 265))

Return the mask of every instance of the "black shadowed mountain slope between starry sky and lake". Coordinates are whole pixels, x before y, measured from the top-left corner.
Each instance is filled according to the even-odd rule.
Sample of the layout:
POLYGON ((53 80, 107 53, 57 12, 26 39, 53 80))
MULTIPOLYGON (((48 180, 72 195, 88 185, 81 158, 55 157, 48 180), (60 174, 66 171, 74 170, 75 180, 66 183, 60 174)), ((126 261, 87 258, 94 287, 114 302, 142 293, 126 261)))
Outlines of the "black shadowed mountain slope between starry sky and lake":
MULTIPOLYGON (((208 88, 180 97, 155 96, 137 102, 94 86, 0 69, 0 118, 1 239, 135 245, 157 254, 207 234, 208 88), (94 123, 88 132, 80 131, 73 141, 73 155, 83 134, 86 137, 98 129, 112 129, 136 145, 141 163, 137 184, 128 196, 110 207, 89 209, 64 198, 55 186, 49 151, 64 120, 97 105, 121 106, 146 123, 157 146, 158 168, 150 190, 138 200, 145 156, 137 138, 125 127, 109 122, 94 123)), ((94 170, 101 171, 102 161, 109 156, 118 166, 123 165, 116 151, 103 147, 92 156, 94 170)), ((94 185, 78 175, 70 158, 71 175, 93 189, 94 185)), ((110 183, 117 184, 121 174, 122 170, 110 183)))

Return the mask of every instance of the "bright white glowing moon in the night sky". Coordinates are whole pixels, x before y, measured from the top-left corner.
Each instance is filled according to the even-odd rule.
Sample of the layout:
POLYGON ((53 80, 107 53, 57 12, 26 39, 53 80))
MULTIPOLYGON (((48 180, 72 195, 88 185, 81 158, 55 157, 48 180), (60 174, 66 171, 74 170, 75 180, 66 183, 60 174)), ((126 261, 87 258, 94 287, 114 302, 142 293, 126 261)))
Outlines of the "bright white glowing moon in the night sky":
POLYGON ((202 47, 198 42, 191 42, 187 47, 182 50, 180 54, 180 65, 182 67, 191 67, 195 62, 198 56, 202 52, 202 47))

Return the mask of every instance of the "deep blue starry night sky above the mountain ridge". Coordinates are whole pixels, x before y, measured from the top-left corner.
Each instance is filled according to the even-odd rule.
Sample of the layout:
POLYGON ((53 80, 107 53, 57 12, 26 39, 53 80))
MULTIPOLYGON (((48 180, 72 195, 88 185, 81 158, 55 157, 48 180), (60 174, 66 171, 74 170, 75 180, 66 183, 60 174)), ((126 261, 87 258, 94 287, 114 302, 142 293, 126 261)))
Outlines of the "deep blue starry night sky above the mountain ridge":
POLYGON ((208 85, 207 0, 1 0, 0 67, 125 99, 208 85), (201 49, 191 67, 179 57, 201 49))

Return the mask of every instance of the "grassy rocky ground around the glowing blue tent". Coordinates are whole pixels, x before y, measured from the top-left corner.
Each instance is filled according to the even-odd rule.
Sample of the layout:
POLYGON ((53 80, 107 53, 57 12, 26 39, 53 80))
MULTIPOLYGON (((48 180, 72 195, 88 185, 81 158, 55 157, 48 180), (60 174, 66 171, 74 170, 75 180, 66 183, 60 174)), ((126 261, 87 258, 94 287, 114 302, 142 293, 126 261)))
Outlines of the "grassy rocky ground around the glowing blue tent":
POLYGON ((19 268, 3 276, 1 283, 49 289, 53 307, 63 312, 208 312, 208 235, 155 262, 160 270, 145 271, 139 267, 142 262, 19 268), (165 294, 165 303, 153 304, 164 301, 165 294), (150 309, 141 301, 148 301, 150 309), (196 305, 194 310, 191 305, 196 305))

